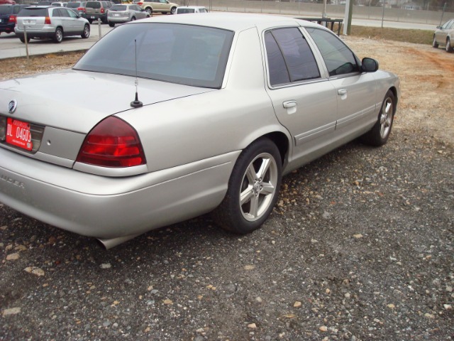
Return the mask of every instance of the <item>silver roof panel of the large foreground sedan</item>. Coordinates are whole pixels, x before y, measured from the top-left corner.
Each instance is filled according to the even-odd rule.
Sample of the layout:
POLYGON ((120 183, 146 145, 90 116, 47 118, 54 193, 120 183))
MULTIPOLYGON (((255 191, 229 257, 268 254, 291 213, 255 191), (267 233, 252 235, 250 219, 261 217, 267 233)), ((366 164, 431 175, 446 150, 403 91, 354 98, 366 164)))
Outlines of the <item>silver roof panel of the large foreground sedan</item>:
POLYGON ((249 14, 249 13, 206 13, 204 16, 155 16, 153 18, 135 21, 132 24, 140 22, 155 23, 182 23, 187 25, 209 26, 223 28, 229 31, 243 31, 255 26, 275 27, 275 26, 294 26, 301 25, 321 27, 316 23, 302 21, 286 16, 272 16, 267 14, 249 14))

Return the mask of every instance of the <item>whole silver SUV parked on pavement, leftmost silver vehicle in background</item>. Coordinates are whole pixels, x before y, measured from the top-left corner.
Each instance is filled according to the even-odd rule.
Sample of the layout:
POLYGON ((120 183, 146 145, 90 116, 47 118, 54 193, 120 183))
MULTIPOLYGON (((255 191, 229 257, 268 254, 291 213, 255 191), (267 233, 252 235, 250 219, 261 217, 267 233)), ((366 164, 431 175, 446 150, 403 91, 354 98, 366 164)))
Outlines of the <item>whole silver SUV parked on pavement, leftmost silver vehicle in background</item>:
POLYGON ((26 39, 41 38, 51 38, 55 43, 61 43, 66 36, 89 38, 90 24, 87 19, 65 7, 33 6, 18 13, 14 32, 22 43, 26 39))

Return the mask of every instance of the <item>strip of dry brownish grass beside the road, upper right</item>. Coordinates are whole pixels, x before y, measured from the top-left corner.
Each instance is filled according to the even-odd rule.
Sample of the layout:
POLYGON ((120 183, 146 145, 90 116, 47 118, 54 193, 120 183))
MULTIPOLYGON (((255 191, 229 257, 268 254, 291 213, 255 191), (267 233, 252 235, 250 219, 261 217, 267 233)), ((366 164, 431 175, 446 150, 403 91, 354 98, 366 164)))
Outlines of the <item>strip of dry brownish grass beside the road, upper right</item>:
POLYGON ((351 36, 431 45, 434 31, 435 27, 433 31, 427 31, 407 30, 402 28, 352 26, 351 36))

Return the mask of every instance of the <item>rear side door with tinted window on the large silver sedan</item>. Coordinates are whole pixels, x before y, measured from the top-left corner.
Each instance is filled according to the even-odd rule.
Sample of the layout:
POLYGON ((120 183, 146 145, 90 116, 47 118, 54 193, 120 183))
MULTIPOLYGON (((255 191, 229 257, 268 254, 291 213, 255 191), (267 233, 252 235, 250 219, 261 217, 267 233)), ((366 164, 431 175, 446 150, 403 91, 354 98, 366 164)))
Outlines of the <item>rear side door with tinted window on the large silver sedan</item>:
POLYGON ((293 155, 302 164, 330 144, 336 129, 336 91, 299 27, 265 32, 267 93, 277 119, 293 137, 293 155))

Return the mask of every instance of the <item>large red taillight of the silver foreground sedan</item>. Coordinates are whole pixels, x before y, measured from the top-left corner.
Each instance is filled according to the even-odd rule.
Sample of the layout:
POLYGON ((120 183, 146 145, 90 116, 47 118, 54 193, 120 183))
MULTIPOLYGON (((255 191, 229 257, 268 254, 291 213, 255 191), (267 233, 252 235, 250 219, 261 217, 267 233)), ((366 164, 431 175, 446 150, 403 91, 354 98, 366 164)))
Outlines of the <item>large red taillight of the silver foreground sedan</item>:
POLYGON ((146 163, 137 132, 116 117, 104 119, 89 132, 76 161, 116 168, 146 163))

